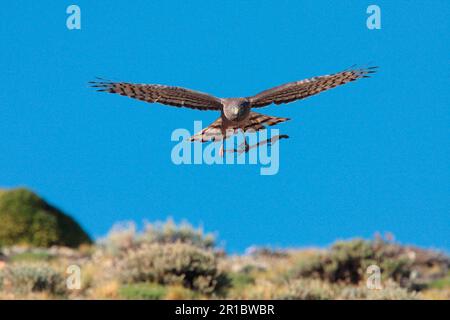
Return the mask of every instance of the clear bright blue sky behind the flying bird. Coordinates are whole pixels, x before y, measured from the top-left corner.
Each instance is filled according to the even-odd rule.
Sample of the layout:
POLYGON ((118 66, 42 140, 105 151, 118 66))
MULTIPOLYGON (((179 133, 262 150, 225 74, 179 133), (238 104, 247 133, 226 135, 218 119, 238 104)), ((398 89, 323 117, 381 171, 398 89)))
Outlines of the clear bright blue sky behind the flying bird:
POLYGON ((93 235, 167 216, 229 251, 390 231, 450 248, 450 2, 9 1, 0 11, 0 186, 28 186, 93 235), (374 63, 371 79, 264 113, 280 171, 175 166, 175 128, 217 114, 96 93, 95 76, 248 96, 374 63))

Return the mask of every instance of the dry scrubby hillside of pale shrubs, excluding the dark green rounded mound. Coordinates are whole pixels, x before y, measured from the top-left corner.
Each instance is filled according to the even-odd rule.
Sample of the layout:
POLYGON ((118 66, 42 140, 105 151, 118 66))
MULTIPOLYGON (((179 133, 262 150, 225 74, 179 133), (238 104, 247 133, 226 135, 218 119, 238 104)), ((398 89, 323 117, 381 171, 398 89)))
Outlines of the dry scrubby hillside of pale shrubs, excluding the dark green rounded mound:
POLYGON ((114 227, 78 249, 1 252, 0 298, 7 299, 450 299, 445 254, 380 237, 227 256, 212 235, 169 220, 142 232, 114 227), (81 270, 79 289, 66 286, 71 265, 81 270), (366 285, 370 265, 380 267, 378 289, 366 285))

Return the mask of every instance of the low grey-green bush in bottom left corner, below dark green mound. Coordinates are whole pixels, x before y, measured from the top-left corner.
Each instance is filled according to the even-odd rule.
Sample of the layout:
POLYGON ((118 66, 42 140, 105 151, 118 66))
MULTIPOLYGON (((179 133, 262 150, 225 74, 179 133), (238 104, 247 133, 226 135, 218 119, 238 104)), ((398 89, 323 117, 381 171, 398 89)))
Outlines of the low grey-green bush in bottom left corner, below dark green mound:
POLYGON ((0 289, 22 295, 46 292, 61 296, 66 292, 64 277, 46 264, 13 264, 1 269, 0 289))

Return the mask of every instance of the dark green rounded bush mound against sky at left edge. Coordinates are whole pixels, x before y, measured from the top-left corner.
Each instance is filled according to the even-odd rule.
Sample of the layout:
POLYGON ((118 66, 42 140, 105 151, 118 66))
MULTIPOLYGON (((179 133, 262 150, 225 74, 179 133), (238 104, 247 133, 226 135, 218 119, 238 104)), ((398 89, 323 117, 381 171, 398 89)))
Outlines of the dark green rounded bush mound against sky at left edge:
POLYGON ((27 189, 0 193, 0 221, 0 246, 77 247, 91 243, 71 217, 27 189))

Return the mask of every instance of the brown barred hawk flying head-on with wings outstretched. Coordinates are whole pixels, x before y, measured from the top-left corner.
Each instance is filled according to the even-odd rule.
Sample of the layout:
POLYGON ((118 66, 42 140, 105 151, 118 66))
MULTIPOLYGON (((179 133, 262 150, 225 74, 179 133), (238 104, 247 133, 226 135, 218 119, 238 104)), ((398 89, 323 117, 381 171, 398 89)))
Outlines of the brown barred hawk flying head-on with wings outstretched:
MULTIPOLYGON (((335 74, 289 82, 254 96, 242 98, 217 98, 199 91, 159 84, 135 84, 103 79, 89 83, 97 88, 97 91, 116 93, 149 103, 219 111, 220 117, 193 135, 190 141, 222 141, 220 154, 223 155, 223 141, 238 131, 242 131, 245 135, 245 132, 256 132, 267 126, 290 120, 257 113, 252 109, 266 107, 272 103, 278 105, 305 99, 348 82, 368 78, 370 74, 375 73, 376 69, 377 67, 350 68, 335 74)), ((281 138, 287 138, 287 136, 280 135, 278 139, 271 140, 281 138)), ((244 139, 243 151, 247 152, 250 148, 247 140, 244 139)))

